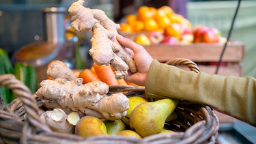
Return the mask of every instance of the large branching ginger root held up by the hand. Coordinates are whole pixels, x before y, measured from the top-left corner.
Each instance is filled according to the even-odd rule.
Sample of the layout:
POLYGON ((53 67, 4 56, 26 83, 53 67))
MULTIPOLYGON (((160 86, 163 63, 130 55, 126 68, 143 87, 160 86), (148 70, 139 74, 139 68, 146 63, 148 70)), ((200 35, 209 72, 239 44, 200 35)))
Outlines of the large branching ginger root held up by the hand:
POLYGON ((101 66, 113 66, 115 78, 121 79, 128 74, 127 70, 137 72, 134 60, 117 42, 117 30, 120 29, 102 10, 83 7, 85 1, 78 0, 70 6, 71 26, 74 31, 93 31, 89 54, 94 62, 101 66))

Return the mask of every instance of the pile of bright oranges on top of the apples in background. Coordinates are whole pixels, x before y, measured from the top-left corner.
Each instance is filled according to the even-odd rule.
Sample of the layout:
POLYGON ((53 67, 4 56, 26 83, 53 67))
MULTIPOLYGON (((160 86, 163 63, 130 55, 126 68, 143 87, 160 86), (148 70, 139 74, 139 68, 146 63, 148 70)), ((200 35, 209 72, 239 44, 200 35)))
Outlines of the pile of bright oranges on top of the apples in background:
POLYGON ((126 16, 126 23, 121 23, 120 26, 120 31, 126 33, 161 31, 165 36, 175 37, 184 33, 184 29, 191 29, 190 21, 180 14, 175 14, 167 5, 160 8, 141 6, 136 15, 126 16))

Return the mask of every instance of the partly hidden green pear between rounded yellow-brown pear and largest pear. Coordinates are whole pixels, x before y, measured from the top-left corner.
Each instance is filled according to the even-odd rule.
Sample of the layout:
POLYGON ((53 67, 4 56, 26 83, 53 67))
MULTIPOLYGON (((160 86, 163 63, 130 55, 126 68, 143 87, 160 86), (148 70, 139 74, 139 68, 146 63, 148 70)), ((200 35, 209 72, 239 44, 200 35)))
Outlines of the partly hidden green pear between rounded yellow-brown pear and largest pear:
POLYGON ((104 124, 106 126, 107 134, 117 134, 122 130, 126 130, 126 125, 121 119, 117 119, 115 121, 107 120, 104 121, 104 124))

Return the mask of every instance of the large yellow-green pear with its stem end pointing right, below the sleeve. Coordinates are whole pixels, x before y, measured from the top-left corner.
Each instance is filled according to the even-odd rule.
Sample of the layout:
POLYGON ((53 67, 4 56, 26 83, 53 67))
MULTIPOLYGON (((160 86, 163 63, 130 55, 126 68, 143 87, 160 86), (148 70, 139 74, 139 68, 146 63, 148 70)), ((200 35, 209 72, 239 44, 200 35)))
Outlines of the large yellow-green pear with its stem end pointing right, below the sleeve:
POLYGON ((178 100, 166 98, 139 104, 130 114, 130 128, 141 137, 158 134, 164 128, 167 117, 174 111, 178 102, 178 100))

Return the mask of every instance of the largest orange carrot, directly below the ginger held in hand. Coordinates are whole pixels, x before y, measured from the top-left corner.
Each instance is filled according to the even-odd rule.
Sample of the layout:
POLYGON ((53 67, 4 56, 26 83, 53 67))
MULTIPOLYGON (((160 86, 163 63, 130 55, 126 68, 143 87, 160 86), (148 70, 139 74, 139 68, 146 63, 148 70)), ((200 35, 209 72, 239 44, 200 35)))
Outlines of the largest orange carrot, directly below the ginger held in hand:
POLYGON ((93 67, 98 78, 100 78, 100 81, 106 83, 107 85, 118 85, 117 80, 115 79, 115 74, 109 66, 98 66, 96 63, 94 63, 93 67))

